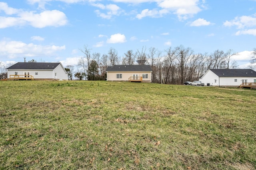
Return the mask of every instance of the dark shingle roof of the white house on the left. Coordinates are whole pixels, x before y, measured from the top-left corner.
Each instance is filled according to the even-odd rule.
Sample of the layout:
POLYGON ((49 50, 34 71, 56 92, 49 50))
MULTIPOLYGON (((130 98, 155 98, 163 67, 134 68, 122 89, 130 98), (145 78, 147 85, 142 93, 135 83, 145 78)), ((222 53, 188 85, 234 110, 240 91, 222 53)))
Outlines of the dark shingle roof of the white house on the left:
POLYGON ((14 69, 14 70, 53 70, 56 68, 60 63, 23 63, 18 62, 7 69, 14 69))

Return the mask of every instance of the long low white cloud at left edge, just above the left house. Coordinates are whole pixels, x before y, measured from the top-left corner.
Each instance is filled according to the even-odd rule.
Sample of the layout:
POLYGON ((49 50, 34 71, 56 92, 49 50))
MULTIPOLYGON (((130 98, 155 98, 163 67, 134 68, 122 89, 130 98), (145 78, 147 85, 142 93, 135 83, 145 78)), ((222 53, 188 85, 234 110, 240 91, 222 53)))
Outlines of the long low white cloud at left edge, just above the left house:
POLYGON ((54 52, 65 50, 65 45, 36 45, 22 41, 0 41, 0 56, 10 59, 18 57, 52 56, 54 52))

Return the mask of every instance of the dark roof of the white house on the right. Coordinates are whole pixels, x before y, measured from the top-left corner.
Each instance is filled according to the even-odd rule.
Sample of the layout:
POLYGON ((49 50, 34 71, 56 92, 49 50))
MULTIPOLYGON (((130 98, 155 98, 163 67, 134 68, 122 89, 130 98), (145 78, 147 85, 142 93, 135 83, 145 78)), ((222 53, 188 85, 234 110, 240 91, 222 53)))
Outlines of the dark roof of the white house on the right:
POLYGON ((219 77, 256 77, 252 69, 210 69, 219 77))

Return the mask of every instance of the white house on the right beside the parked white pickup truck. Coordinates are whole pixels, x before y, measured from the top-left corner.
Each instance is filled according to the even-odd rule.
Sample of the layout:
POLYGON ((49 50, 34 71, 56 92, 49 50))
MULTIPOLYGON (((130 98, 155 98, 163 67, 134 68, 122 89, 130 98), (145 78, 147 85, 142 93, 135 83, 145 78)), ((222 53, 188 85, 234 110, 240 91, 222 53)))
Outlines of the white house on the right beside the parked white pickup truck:
POLYGON ((199 80, 210 86, 240 86, 256 83, 256 72, 252 69, 209 69, 199 80))

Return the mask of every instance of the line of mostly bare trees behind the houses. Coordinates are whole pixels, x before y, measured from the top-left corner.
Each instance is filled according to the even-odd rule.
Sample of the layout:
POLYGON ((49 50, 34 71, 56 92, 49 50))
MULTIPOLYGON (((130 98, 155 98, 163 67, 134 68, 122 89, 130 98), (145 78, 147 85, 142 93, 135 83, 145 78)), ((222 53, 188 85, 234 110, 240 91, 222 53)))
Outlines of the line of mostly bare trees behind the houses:
MULTIPOLYGON (((168 47, 160 51, 155 47, 142 47, 136 51, 128 50, 122 57, 118 51, 110 47, 107 54, 92 53, 88 45, 79 49, 83 57, 77 64, 67 65, 65 70, 69 80, 106 80, 106 68, 116 64, 134 65, 148 64, 152 68, 152 82, 164 84, 183 84, 184 81, 198 80, 208 69, 238 68, 233 56, 238 55, 232 49, 224 52, 215 50, 212 53, 194 53, 190 47, 183 45, 168 47)), ((252 51, 249 68, 256 69, 256 48, 252 51)), ((29 62, 36 62, 31 60, 29 62)), ((7 76, 6 68, 12 63, 4 65, 0 62, 0 72, 7 76)))

